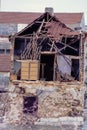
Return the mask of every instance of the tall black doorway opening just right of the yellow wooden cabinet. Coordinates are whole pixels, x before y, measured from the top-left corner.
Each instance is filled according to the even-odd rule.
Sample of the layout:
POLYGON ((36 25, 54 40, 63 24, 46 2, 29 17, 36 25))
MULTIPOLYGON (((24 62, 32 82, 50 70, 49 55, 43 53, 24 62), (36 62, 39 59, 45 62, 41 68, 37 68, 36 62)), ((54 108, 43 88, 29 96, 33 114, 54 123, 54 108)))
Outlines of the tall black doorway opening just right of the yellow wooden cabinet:
POLYGON ((54 54, 41 54, 40 80, 53 81, 54 57, 54 54))

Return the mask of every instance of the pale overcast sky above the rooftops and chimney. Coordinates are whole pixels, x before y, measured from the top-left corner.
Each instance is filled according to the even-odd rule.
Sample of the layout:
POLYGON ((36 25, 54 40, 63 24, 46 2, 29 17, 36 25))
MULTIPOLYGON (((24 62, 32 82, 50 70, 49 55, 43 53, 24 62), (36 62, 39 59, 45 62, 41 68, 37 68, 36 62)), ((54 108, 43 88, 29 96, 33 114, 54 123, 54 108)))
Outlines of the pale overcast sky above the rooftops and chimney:
POLYGON ((83 12, 87 24, 87 0, 1 0, 1 11, 44 12, 53 7, 54 12, 83 12))

